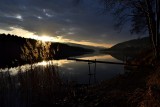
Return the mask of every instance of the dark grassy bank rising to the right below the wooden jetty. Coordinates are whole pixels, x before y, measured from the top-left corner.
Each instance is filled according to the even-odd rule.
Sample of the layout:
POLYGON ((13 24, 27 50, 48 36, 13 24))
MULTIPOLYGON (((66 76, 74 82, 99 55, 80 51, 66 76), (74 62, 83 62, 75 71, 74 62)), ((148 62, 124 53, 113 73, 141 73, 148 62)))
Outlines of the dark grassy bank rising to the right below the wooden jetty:
MULTIPOLYGON (((140 63, 150 59, 146 58, 140 63)), ((135 61, 134 61, 135 63, 135 61)), ((148 64, 146 62, 146 64, 148 64)), ((80 105, 89 107, 160 107, 160 63, 126 71, 90 86, 80 105), (87 93, 87 94, 86 94, 87 93)))

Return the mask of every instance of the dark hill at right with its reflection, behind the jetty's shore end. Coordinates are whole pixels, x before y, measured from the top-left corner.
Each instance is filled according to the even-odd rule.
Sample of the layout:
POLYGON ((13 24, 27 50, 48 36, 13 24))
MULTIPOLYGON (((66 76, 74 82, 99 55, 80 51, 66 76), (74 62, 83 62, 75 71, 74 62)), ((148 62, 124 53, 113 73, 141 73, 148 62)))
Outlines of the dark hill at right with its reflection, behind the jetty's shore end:
POLYGON ((101 52, 110 54, 119 60, 125 60, 125 57, 133 58, 149 48, 151 48, 149 37, 144 37, 118 43, 109 49, 101 50, 101 52))

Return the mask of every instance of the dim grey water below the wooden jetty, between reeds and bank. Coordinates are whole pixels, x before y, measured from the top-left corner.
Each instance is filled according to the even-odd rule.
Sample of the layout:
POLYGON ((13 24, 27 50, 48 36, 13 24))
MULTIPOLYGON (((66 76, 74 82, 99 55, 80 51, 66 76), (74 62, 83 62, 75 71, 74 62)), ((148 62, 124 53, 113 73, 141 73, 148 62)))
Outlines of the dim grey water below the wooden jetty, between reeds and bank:
MULTIPOLYGON (((90 65, 91 73, 94 73, 94 64, 90 65)), ((86 62, 69 63, 60 67, 63 79, 86 83, 89 81, 89 67, 86 62)), ((96 79, 98 81, 109 79, 119 73, 123 73, 123 66, 111 64, 97 64, 96 79)), ((91 77, 93 80, 93 76, 91 77)))

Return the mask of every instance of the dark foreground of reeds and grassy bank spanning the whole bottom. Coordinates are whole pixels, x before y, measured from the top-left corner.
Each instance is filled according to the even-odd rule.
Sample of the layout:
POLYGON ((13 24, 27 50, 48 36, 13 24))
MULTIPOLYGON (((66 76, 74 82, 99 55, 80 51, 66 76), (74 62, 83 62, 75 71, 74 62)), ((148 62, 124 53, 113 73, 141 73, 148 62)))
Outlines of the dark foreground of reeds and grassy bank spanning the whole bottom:
MULTIPOLYGON (((137 60, 137 59, 136 59, 137 60)), ((160 64, 126 70, 95 85, 61 80, 53 64, 0 73, 1 107, 159 107, 160 64), (33 69, 34 68, 34 69, 33 69)))

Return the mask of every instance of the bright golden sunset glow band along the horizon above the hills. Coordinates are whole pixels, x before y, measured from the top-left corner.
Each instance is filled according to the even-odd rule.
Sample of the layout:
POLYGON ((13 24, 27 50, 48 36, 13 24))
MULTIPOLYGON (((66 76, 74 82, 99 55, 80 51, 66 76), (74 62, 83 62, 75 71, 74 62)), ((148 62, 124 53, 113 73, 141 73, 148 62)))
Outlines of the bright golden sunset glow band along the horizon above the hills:
POLYGON ((66 38, 63 38, 63 36, 55 36, 55 37, 51 37, 49 35, 38 36, 38 35, 35 35, 35 33, 24 30, 22 28, 11 27, 11 29, 12 30, 9 30, 9 31, 0 29, 0 33, 12 34, 12 35, 17 35, 24 38, 41 40, 43 42, 48 41, 48 42, 60 42, 60 43, 75 43, 80 45, 88 45, 88 46, 103 47, 103 48, 109 48, 113 46, 113 44, 107 44, 107 43, 94 43, 91 41, 84 41, 84 40, 77 41, 72 39, 66 39, 66 38))

